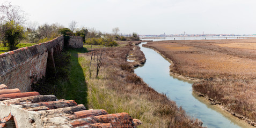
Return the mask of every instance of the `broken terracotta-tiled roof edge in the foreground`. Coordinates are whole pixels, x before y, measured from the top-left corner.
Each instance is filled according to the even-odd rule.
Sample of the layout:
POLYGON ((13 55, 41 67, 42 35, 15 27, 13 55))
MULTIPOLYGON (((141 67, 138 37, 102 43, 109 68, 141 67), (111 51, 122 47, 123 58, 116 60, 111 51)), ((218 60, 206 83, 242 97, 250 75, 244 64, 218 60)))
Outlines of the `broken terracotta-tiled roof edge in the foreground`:
POLYGON ((0 85, 0 127, 136 127, 141 121, 127 113, 86 110, 74 100, 20 92, 0 85), (12 123, 11 123, 12 122, 12 123))

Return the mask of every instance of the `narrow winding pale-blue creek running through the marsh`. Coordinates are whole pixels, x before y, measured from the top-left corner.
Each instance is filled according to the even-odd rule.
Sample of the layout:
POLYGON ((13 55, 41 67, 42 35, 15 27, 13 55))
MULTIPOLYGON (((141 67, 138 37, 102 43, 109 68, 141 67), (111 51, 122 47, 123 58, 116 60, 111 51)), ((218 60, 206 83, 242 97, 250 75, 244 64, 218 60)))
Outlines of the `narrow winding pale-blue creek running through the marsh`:
POLYGON ((207 127, 248 127, 245 122, 231 116, 220 107, 210 105, 210 102, 198 97, 192 91, 193 82, 170 76, 169 61, 156 51, 142 47, 141 51, 147 59, 145 65, 135 69, 145 83, 159 93, 165 93, 167 97, 182 107, 189 116, 198 118, 207 127))

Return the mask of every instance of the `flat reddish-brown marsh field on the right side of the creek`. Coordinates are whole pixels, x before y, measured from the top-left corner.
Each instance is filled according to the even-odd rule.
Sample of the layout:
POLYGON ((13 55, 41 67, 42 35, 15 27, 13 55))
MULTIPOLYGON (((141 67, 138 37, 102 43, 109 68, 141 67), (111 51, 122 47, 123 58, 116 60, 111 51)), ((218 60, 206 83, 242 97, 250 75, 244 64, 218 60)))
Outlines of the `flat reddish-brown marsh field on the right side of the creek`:
POLYGON ((169 58, 172 73, 202 79, 193 89, 213 104, 256 125, 255 40, 163 41, 145 46, 169 58))

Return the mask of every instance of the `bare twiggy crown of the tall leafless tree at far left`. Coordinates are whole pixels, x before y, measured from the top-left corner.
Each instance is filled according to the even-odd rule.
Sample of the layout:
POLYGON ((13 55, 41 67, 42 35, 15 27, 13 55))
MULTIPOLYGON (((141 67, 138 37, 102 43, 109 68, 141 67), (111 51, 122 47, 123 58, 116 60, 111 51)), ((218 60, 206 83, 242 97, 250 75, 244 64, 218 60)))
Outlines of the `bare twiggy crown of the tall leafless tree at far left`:
POLYGON ((11 3, 3 3, 0 6, 1 24, 13 21, 15 25, 22 25, 26 21, 27 13, 20 9, 20 6, 13 6, 11 3))

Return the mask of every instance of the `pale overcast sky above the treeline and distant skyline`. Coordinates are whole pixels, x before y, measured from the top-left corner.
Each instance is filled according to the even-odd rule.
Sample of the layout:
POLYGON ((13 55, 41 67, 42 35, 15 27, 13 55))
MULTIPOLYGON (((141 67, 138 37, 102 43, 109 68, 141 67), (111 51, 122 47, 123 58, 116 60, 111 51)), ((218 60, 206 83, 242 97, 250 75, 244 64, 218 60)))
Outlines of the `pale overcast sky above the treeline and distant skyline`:
MULTIPOLYGON (((0 0, 1 4, 6 0, 0 0)), ((256 34, 255 0, 11 0, 29 21, 111 33, 256 34)))

